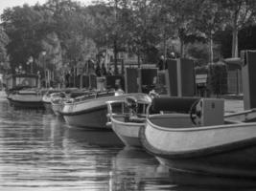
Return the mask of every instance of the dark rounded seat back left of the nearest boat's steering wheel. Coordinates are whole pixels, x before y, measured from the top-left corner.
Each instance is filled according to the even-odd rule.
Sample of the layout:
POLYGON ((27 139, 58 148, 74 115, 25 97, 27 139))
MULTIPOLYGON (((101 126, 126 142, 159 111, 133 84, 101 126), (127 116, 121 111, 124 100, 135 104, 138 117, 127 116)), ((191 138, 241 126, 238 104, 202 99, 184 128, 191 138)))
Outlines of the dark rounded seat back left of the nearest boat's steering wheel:
POLYGON ((174 112, 188 114, 199 97, 155 97, 151 102, 151 113, 174 112))

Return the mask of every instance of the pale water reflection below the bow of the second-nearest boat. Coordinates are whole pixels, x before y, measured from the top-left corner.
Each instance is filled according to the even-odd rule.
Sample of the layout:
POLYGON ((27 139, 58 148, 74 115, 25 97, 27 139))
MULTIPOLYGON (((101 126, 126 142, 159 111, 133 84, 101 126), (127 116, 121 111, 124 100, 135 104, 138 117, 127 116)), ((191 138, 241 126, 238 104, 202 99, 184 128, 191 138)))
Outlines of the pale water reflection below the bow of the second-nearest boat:
POLYGON ((169 170, 143 150, 125 147, 112 159, 112 190, 161 190, 170 186, 169 170))

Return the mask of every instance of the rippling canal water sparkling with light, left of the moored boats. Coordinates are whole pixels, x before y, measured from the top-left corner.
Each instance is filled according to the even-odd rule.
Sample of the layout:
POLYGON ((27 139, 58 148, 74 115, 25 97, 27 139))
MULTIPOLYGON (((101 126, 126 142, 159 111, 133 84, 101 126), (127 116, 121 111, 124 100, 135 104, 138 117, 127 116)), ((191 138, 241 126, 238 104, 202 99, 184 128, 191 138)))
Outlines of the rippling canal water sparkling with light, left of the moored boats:
POLYGON ((0 99, 0 191, 245 189, 255 190, 254 182, 171 171, 145 151, 124 147, 113 132, 71 127, 0 99))

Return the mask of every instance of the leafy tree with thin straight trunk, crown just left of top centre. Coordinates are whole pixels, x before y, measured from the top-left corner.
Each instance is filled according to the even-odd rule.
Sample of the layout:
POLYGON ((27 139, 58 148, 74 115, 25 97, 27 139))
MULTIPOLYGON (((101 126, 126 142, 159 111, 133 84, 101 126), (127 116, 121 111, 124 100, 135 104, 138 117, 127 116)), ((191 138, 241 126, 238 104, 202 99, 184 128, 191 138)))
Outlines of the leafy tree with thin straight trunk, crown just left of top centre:
POLYGON ((117 74, 117 55, 126 49, 128 40, 128 23, 126 0, 108 0, 89 6, 92 15, 92 39, 99 49, 111 48, 114 53, 115 74, 117 74))

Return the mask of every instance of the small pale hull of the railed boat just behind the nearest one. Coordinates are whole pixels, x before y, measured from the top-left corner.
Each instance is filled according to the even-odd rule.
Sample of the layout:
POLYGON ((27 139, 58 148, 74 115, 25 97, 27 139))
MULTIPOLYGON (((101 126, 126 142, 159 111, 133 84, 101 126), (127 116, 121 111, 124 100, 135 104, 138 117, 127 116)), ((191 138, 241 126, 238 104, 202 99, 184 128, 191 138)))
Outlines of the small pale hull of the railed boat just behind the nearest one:
POLYGON ((139 132, 144 123, 124 122, 124 117, 111 117, 111 125, 113 131, 127 146, 142 147, 139 132))

